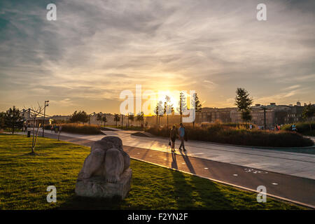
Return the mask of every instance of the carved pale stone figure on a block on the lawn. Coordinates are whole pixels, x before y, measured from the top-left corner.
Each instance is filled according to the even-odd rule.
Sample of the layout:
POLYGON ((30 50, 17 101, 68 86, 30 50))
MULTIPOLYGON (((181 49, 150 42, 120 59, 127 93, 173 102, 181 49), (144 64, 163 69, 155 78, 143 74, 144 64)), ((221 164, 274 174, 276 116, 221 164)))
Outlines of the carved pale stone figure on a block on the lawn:
POLYGON ((123 151, 119 137, 104 137, 91 146, 78 174, 76 194, 86 197, 125 198, 130 190, 132 169, 130 157, 123 151))

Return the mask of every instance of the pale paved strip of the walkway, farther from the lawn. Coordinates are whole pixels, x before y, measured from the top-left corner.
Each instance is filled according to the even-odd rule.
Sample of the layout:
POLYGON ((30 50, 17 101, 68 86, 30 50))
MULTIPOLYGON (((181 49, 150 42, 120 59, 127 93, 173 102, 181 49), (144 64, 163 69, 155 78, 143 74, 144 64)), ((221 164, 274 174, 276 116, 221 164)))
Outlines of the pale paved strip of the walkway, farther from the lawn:
MULTIPOLYGON (((40 132, 41 133, 41 132, 40 132)), ((50 133, 50 131, 45 132, 50 133)), ((124 146, 147 148, 155 151, 170 153, 167 139, 153 137, 136 137, 134 131, 104 131, 106 135, 115 135, 123 140, 124 146)), ((62 136, 97 141, 103 135, 82 135, 62 133, 62 136)), ((176 141, 179 147, 179 141, 176 141)), ((228 146, 211 144, 201 141, 186 142, 187 155, 195 158, 214 160, 254 169, 263 169, 269 172, 278 172, 308 179, 315 179, 315 155, 304 153, 291 153, 262 148, 248 148, 241 146, 228 146)))

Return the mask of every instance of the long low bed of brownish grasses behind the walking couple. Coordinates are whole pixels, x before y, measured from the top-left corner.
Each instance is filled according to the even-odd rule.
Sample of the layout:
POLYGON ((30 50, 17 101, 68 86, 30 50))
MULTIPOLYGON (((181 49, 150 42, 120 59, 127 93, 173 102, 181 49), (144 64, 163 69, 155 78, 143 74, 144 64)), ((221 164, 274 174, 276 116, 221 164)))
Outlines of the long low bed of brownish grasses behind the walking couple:
MULTIPOLYGON (((167 128, 150 128, 146 131, 157 136, 169 137, 167 128)), ((195 128, 188 126, 186 131, 188 140, 211 141, 241 146, 303 147, 314 145, 311 139, 307 139, 298 133, 286 131, 247 130, 225 125, 209 125, 209 127, 195 128)))

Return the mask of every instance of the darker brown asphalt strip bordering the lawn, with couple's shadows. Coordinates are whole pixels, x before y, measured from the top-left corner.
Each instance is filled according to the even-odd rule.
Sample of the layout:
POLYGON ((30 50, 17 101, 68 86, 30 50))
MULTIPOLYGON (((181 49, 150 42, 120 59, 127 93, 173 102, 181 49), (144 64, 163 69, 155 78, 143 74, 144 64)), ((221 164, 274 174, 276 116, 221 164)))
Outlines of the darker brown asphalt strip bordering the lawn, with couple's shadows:
MULTIPOLYGON (((46 132, 45 137, 57 139, 57 134, 46 132)), ((91 146, 93 140, 60 136, 60 140, 91 146)), ((154 165, 176 169, 202 178, 225 183, 245 190, 257 191, 265 186, 267 195, 315 209, 315 180, 269 172, 253 167, 232 165, 226 162, 196 158, 177 150, 176 153, 155 151, 148 148, 123 146, 130 158, 154 165)))

